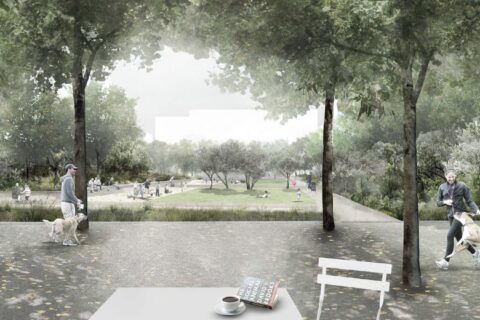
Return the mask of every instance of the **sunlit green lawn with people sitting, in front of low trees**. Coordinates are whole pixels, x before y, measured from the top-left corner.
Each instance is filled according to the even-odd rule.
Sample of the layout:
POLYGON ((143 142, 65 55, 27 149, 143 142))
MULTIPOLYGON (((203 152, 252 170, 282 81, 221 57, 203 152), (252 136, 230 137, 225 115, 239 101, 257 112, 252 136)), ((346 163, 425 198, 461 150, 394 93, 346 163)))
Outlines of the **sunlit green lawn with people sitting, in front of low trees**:
POLYGON ((302 194, 300 201, 296 201, 296 190, 285 189, 285 180, 262 180, 254 190, 246 190, 245 184, 234 184, 225 189, 223 184, 217 184, 210 190, 208 187, 189 190, 154 199, 152 205, 163 203, 167 205, 214 205, 214 206, 283 206, 291 208, 312 208, 315 201, 302 194), (267 190, 268 198, 259 198, 267 190))

